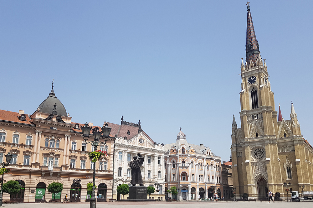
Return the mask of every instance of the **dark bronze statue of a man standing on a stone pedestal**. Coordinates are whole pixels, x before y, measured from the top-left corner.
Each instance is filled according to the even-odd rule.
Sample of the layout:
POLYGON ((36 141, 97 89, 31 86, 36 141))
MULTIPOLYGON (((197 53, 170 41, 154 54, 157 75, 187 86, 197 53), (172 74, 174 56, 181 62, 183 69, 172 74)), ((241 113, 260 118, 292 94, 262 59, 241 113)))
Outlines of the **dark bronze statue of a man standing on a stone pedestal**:
POLYGON ((136 186, 136 184, 139 184, 140 186, 144 186, 142 184, 142 177, 141 177, 141 170, 140 167, 143 164, 143 161, 145 158, 138 153, 134 156, 134 160, 128 163, 129 167, 131 168, 131 184, 133 186, 136 186))

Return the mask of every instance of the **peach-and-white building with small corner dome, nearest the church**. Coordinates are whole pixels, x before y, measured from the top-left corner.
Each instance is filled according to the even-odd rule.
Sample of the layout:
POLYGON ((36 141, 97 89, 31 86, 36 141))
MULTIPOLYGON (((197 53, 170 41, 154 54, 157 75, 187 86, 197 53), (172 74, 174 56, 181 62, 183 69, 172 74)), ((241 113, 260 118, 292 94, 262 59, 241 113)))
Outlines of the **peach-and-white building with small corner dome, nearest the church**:
POLYGON ((166 190, 176 186, 178 201, 192 201, 222 196, 221 157, 216 156, 203 144, 188 143, 186 135, 180 130, 176 143, 164 145, 166 190))

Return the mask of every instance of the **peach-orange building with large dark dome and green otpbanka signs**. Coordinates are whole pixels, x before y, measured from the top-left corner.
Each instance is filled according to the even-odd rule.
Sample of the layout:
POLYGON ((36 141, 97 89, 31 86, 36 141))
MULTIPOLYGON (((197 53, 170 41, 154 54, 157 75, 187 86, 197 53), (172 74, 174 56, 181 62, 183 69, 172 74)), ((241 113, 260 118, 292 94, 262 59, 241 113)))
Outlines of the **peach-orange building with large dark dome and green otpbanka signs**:
MULTIPOLYGON (((92 182, 93 163, 88 152, 93 148, 82 138, 82 124, 71 119, 53 86, 33 114, 0 110, 0 159, 5 160, 8 152, 13 155, 8 166, 11 172, 4 174, 4 182, 16 180, 21 186, 17 195, 4 193, 3 200, 35 202, 44 196, 49 201, 52 193, 47 187, 53 181, 63 184, 63 191, 56 198, 63 199, 68 194, 70 201, 85 201, 90 197, 87 183, 92 182), (75 185, 74 179, 80 179, 80 184, 75 185)), ((114 140, 113 135, 105 145, 98 146, 108 153, 96 163, 98 201, 112 196, 114 140)))

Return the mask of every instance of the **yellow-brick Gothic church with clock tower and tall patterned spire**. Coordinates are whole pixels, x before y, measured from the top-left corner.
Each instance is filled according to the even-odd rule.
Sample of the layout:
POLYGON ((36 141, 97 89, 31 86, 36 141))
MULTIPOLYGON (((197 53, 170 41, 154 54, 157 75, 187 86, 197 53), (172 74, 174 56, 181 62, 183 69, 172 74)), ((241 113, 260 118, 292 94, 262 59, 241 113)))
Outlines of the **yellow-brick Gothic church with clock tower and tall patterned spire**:
MULTIPOLYGON (((298 165, 296 159, 300 158, 305 147, 299 147, 298 153, 295 147, 305 142, 293 104, 290 120, 284 121, 280 112, 277 121, 267 65, 260 55, 249 2, 247 5, 246 59, 244 61, 241 58, 240 66, 241 128, 237 128, 233 115, 231 134, 233 184, 236 187, 237 198, 241 198, 243 193, 248 193, 249 199, 264 199, 267 189, 273 193, 280 192, 283 196, 285 189, 283 184, 287 179, 291 179, 288 178, 289 170, 290 175, 294 176, 291 183, 295 184, 295 187, 298 186, 297 168, 288 169, 286 164, 290 164, 290 167, 292 163, 294 167, 298 165), (288 146, 289 150, 287 148, 288 151, 280 152, 282 146, 288 146)), ((311 146, 308 148, 312 149, 311 146)))

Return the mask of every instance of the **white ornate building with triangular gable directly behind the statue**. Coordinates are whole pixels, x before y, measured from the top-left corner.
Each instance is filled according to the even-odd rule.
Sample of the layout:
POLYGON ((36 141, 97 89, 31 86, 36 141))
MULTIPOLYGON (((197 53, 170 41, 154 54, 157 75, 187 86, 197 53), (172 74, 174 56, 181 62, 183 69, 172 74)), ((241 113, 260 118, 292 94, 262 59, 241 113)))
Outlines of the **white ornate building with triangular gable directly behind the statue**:
MULTIPOLYGON (((128 163, 137 153, 141 153, 145 160, 141 166, 141 174, 144 186, 154 186, 159 182, 159 199, 165 200, 165 176, 164 176, 164 145, 157 144, 141 129, 139 124, 121 121, 121 125, 110 123, 111 134, 115 134, 114 154, 114 187, 113 198, 120 199, 116 188, 122 183, 131 186, 131 168, 128 163)), ((155 186, 154 186, 155 187, 155 186)), ((156 187, 155 187, 156 188, 156 187)), ((156 199, 157 192, 150 197, 156 199)), ((127 196, 124 196, 127 199, 127 196)))

